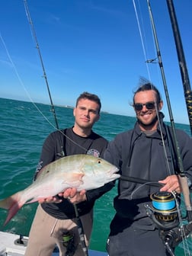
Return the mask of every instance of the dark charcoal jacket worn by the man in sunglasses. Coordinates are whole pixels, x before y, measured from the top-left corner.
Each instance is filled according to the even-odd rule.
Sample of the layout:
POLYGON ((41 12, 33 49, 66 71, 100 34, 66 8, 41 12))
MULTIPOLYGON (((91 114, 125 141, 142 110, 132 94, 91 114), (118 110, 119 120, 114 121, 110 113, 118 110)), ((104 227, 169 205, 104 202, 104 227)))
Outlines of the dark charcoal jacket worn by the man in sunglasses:
MULTIPOLYGON (((136 123, 133 130, 118 134, 109 142, 104 158, 120 168, 120 174, 151 181, 165 179, 168 175, 177 174, 178 163, 174 151, 171 129, 162 122, 163 146, 160 130, 147 136, 136 123), (169 137, 169 139, 168 139, 169 137), (165 156, 165 151, 167 156, 165 156), (168 158, 168 165, 166 158, 168 158)), ((181 130, 176 130, 181 159, 187 177, 192 181, 192 139, 181 130)), ((117 215, 127 218, 130 222, 140 220, 145 226, 152 222, 146 218, 145 205, 151 204, 150 195, 159 190, 150 184, 142 185, 129 181, 119 181, 118 195, 114 199, 117 215)), ((140 225, 140 224, 139 224, 140 225)), ((146 229, 153 229, 148 227, 146 229)))

